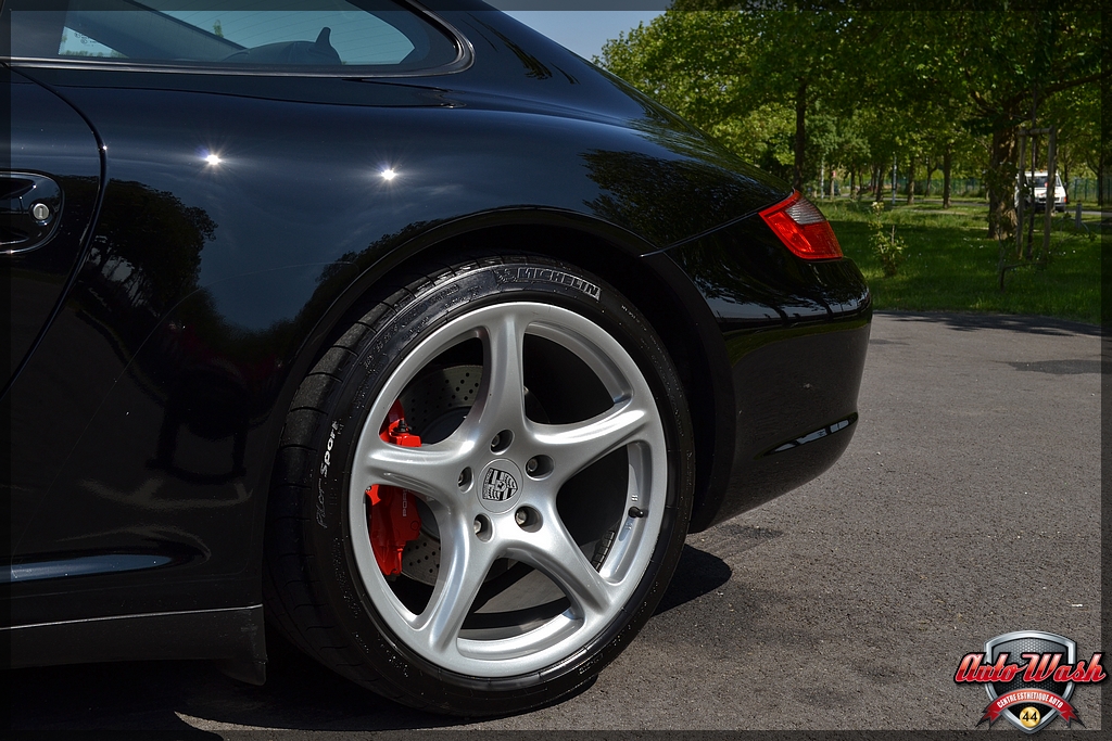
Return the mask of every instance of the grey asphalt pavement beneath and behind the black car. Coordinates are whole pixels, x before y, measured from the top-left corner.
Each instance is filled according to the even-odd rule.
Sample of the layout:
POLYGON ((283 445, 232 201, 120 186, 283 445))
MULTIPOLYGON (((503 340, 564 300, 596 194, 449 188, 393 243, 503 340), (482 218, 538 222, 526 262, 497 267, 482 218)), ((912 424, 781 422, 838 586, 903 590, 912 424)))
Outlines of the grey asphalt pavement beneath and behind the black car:
MULTIPOLYGON (((870 353, 836 467, 689 537, 641 637, 556 707, 475 723, 418 713, 274 644, 261 688, 190 662, 9 671, 11 728, 972 730, 986 694, 953 675, 990 638, 1042 630, 1081 658, 1101 650, 1100 338, 1053 320, 881 314, 870 353)), ((1100 688, 1079 685, 1073 703, 1100 728, 1100 688)))

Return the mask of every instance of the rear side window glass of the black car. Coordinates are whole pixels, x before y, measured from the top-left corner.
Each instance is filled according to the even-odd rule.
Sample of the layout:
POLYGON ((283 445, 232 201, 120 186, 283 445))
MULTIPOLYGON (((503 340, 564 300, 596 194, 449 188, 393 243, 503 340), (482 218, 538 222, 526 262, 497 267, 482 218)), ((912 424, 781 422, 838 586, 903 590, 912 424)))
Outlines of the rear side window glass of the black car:
POLYGON ((11 57, 40 63, 375 74, 450 68, 463 58, 463 46, 446 30, 390 0, 6 4, 11 57))

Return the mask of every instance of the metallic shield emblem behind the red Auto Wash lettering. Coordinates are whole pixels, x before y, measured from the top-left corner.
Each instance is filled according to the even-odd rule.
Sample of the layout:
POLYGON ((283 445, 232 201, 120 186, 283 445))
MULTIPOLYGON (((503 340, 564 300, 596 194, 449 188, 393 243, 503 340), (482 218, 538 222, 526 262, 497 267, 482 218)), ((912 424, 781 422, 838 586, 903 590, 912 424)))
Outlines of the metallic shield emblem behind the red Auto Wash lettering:
MULTIPOLYGON (((1009 663, 1023 664, 1026 660, 1024 653, 1060 653, 1062 664, 1076 663, 1076 644, 1068 638, 1055 633, 1043 633, 1036 630, 1020 630, 1013 633, 1004 633, 990 640, 984 644, 986 659, 995 663, 1001 653, 1007 654, 1009 663)), ((1036 659, 1037 661, 1037 659, 1036 659)), ((1069 700, 1073 694, 1073 682, 1055 682, 1052 674, 1046 675, 1042 681, 1023 681, 1025 672, 1020 672, 1010 682, 990 682, 985 684, 989 691, 989 700, 995 701, 997 698, 1014 692, 1015 690, 1042 690, 1053 692, 1063 700, 1069 700)), ((1006 708, 1001 713, 1015 728, 1024 733, 1036 733, 1050 724, 1059 715, 1056 708, 1039 702, 1017 704, 1014 708, 1006 708)))

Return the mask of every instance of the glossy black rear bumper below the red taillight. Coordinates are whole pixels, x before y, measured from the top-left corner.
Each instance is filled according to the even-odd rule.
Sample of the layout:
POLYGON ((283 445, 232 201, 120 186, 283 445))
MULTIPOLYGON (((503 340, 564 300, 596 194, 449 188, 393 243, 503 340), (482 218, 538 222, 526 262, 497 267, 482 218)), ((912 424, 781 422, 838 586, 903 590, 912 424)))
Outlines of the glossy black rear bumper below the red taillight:
POLYGON ((691 529, 698 531, 791 491, 837 460, 853 424, 806 449, 768 453, 856 414, 872 301, 853 262, 801 260, 761 219, 667 254, 714 313, 731 375, 728 390, 715 397, 734 410, 731 429, 716 435, 732 448, 713 457, 709 471, 703 468, 711 481, 692 515, 691 529))

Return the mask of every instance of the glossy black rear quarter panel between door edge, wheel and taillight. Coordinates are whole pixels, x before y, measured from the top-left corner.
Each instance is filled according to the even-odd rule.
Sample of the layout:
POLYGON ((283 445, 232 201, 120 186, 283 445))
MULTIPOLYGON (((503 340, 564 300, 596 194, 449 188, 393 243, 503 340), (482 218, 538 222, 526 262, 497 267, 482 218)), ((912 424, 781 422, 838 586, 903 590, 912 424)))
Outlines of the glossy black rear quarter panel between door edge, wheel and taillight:
POLYGON ((292 391, 353 288, 436 239, 534 221, 647 254, 783 194, 641 103, 618 126, 411 81, 33 77, 93 123, 107 183, 63 310, 11 389, 14 434, 34 441, 13 458, 13 497, 34 512, 14 558, 165 560, 82 577, 77 600, 22 584, 17 624, 257 600, 292 391))

